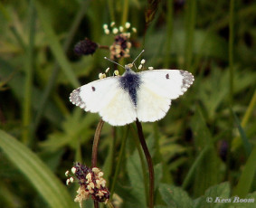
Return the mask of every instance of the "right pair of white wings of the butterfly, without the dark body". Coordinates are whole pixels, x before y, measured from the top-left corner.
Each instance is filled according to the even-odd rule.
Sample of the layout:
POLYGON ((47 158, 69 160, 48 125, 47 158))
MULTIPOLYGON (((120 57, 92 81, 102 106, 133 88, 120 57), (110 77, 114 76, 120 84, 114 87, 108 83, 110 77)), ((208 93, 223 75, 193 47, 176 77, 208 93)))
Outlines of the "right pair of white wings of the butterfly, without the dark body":
POLYGON ((139 75, 142 84, 137 90, 137 118, 143 122, 164 118, 171 100, 184 94, 194 81, 188 71, 153 70, 139 75))

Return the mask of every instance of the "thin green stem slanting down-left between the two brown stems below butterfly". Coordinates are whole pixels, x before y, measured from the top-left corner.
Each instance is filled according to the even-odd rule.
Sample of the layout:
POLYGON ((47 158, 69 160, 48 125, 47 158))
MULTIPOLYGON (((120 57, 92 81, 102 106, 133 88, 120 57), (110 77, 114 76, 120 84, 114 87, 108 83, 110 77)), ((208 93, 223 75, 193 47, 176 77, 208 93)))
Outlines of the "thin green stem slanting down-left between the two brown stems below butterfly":
POLYGON ((118 176, 119 176, 121 162, 122 162, 122 159, 123 159, 123 156, 124 156, 124 153, 125 153, 127 138, 128 138, 128 128, 125 128, 125 133, 124 133, 124 137, 122 139, 122 144, 121 144, 121 148, 120 148, 120 152, 119 152, 119 160, 117 162, 115 175, 114 175, 113 181, 111 183, 110 200, 112 199, 114 191, 115 191, 115 184, 117 183, 117 179, 118 179, 118 176))

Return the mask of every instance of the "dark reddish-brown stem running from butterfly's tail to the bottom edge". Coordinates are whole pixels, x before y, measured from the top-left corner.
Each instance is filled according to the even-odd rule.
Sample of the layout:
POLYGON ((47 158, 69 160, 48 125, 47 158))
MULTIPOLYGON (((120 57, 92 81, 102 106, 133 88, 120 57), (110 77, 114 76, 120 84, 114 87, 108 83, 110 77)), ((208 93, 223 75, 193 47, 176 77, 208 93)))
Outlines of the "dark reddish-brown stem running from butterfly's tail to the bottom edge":
POLYGON ((145 137, 143 135, 142 126, 141 123, 136 120, 136 126, 137 126, 137 134, 138 138, 141 144, 141 147, 143 148, 144 154, 147 159, 147 166, 148 166, 148 173, 149 173, 149 208, 154 207, 154 167, 152 158, 150 156, 150 153, 147 148, 147 143, 145 140, 145 137))

